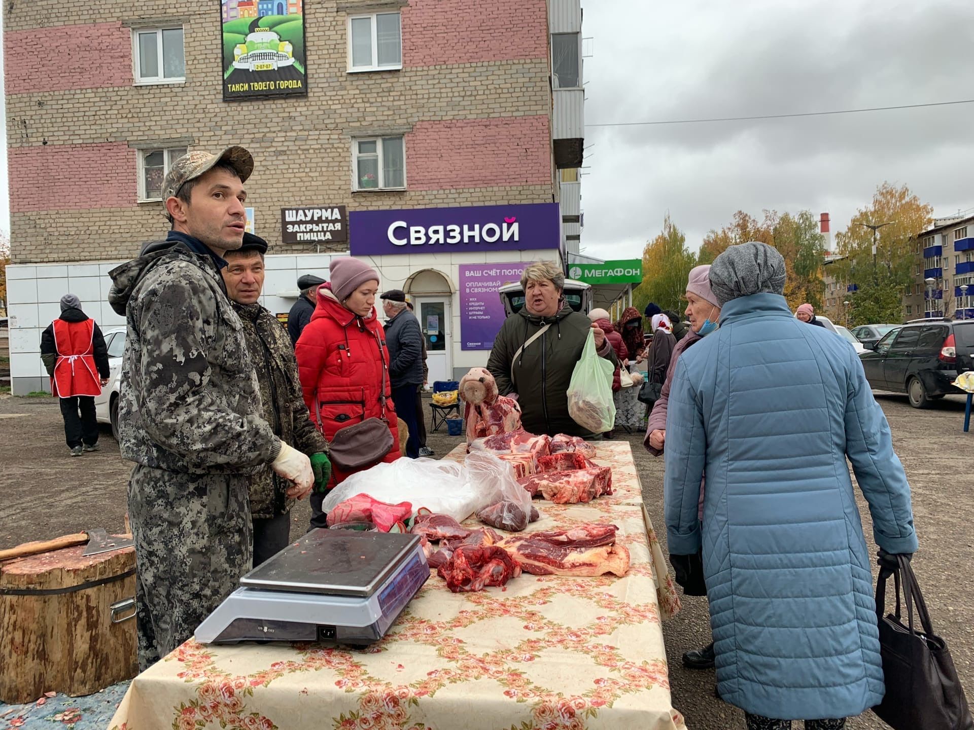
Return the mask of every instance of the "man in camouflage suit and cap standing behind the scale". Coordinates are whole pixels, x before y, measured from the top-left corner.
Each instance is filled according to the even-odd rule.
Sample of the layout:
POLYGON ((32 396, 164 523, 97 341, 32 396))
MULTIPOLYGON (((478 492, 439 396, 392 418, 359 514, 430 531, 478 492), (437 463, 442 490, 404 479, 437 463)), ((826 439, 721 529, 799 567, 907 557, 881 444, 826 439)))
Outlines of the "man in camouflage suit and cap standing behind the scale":
POLYGON ((138 664, 145 670, 192 637, 249 569, 253 475, 270 464, 310 493, 308 456, 274 435, 240 318, 227 299, 222 256, 244 237, 243 147, 192 152, 172 165, 165 241, 117 267, 108 301, 126 314, 119 441, 135 462, 138 664))

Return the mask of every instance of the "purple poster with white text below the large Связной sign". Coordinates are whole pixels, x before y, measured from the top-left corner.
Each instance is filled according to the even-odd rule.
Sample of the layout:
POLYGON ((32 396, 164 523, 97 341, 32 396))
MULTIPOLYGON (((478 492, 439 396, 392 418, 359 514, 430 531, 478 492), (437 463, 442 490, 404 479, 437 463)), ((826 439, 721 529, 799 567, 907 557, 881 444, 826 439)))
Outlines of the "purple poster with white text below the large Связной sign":
POLYGON ((461 349, 490 349, 504 324, 504 303, 497 290, 520 281, 529 262, 460 265, 461 349))

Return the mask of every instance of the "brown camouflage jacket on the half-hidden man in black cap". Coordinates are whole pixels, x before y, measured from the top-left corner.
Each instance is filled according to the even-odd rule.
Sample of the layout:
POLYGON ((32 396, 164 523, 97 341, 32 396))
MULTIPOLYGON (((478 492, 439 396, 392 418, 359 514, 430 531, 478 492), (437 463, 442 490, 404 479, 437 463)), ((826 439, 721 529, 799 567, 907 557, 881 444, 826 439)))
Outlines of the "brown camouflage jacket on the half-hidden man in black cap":
MULTIPOLYGON (((285 444, 308 456, 328 453, 328 442, 318 432, 308 416, 298 380, 298 364, 294 359, 291 339, 281 322, 259 304, 233 303, 244 325, 250 361, 260 385, 264 420, 285 444)), ((270 518, 290 510, 294 504, 285 492, 286 481, 265 467, 254 475, 250 483, 250 513, 254 518, 270 518)))

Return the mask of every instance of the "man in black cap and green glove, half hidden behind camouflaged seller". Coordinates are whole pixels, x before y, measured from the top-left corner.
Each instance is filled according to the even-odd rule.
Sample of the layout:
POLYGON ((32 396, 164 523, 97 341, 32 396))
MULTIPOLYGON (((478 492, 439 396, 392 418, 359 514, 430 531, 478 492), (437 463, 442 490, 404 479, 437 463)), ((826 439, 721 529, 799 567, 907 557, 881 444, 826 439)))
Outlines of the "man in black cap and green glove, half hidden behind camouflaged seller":
MULTIPOLYGON (((244 245, 225 255, 222 271, 227 296, 244 325, 250 361, 257 374, 264 420, 274 435, 311 458, 315 489, 323 492, 331 475, 328 442, 308 416, 298 380, 298 365, 281 322, 258 300, 264 288, 267 241, 244 234, 244 245)), ((250 519, 253 525, 253 566, 281 552, 290 539, 290 485, 269 467, 250 480, 250 519)))

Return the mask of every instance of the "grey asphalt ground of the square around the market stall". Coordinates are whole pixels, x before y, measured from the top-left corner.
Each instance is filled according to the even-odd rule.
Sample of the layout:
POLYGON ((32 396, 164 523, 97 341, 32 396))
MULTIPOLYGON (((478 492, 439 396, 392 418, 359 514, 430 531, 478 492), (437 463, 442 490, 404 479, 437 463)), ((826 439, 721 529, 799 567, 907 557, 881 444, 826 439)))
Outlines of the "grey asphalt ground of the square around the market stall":
MULTIPOLYGON (((974 586, 971 560, 974 517, 971 455, 974 432, 963 433, 963 398, 951 396, 928 411, 911 408, 906 396, 879 394, 897 454, 913 489, 919 551, 914 559, 923 595, 938 635, 946 639, 961 682, 974 693, 974 586)), ((429 410, 427 411, 429 416, 429 410)), ((446 429, 430 434, 429 446, 443 456, 460 443, 446 429)), ((643 493, 660 540, 662 459, 642 448, 641 434, 619 434, 633 445, 643 493)), ((64 445, 57 404, 51 398, 0 399, 0 549, 27 540, 47 539, 83 529, 123 529, 126 485, 131 464, 119 456, 107 428, 101 450, 70 457, 64 445)), ((872 535, 869 511, 859 498, 863 527, 872 535)), ((308 524, 307 501, 292 512, 292 533, 308 524)), ((871 549, 872 540, 869 539, 871 549)), ((691 730, 743 727, 741 712, 714 696, 713 671, 683 668, 682 654, 710 640, 709 616, 702 598, 685 598, 683 610, 663 626, 673 705, 684 712, 691 730)), ((972 698, 974 699, 974 698, 972 698)), ((847 727, 884 728, 871 712, 852 718, 847 727)))

